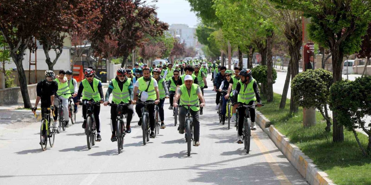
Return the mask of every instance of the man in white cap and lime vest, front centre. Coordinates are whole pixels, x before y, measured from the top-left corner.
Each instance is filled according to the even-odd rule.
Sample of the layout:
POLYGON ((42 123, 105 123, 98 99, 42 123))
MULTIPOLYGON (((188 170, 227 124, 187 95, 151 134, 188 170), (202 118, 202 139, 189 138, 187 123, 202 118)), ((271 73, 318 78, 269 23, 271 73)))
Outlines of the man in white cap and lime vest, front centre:
MULTIPOLYGON (((197 84, 193 83, 193 78, 191 75, 185 75, 184 77, 184 84, 181 85, 178 90, 177 94, 175 94, 173 106, 178 107, 178 100, 180 98, 180 105, 188 105, 188 104, 197 104, 200 107, 205 106, 205 99, 202 95, 201 88, 197 84), (201 100, 201 104, 199 102, 201 100)), ((195 141, 194 146, 200 146, 200 107, 191 107, 191 115, 193 118, 193 139, 195 141)), ((184 122, 185 116, 187 115, 186 107, 181 107, 179 109, 179 134, 184 134, 184 122)))

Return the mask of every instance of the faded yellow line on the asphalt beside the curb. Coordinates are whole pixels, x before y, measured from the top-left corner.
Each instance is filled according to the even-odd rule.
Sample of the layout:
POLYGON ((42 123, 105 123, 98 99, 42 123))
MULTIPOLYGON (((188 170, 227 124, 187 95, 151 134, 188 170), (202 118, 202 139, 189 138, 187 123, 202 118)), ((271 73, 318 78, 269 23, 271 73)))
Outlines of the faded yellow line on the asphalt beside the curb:
POLYGON ((279 167, 279 165, 276 164, 275 158, 273 158, 272 155, 268 152, 268 149, 263 145, 263 143, 260 141, 259 137, 255 132, 252 132, 252 137, 259 148, 260 152, 265 153, 263 154, 264 158, 269 164, 270 169, 272 169, 273 173, 276 175, 278 180, 280 181, 281 185, 291 185, 291 182, 286 177, 286 175, 283 173, 282 169, 279 167))

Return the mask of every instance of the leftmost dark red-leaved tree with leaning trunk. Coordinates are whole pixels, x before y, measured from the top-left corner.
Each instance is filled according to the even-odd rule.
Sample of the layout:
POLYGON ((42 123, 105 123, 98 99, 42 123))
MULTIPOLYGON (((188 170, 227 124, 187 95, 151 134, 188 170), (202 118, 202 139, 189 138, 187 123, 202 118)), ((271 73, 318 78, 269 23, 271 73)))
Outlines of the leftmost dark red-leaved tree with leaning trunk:
POLYGON ((41 31, 40 25, 47 19, 43 10, 49 6, 48 3, 46 0, 0 0, 0 31, 17 66, 24 108, 32 108, 32 105, 22 64, 23 55, 32 44, 32 36, 41 31))

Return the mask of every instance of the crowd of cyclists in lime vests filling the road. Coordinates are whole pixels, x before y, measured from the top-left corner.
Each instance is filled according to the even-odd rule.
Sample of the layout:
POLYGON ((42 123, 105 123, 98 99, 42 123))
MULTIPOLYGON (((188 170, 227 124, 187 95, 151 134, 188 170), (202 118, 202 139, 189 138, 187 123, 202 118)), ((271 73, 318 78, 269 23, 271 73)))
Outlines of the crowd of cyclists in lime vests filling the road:
MULTIPOLYGON (((232 110, 232 122, 235 122, 236 112, 239 117, 243 118, 246 112, 246 107, 242 105, 262 106, 259 88, 256 80, 252 77, 250 69, 242 69, 234 67, 234 72, 227 70, 224 66, 217 66, 216 61, 175 61, 173 64, 152 65, 151 68, 147 64, 137 63, 134 68, 127 66, 127 69, 119 68, 116 71, 116 77, 111 80, 107 91, 103 92, 102 83, 95 75, 93 67, 89 67, 84 71, 85 78, 78 85, 77 81, 72 78, 72 71, 60 70, 56 75, 52 70, 45 71, 45 79, 37 84, 37 99, 35 107, 32 111, 35 113, 37 105, 41 102, 41 108, 58 107, 59 101, 63 104, 64 115, 68 115, 68 100, 70 97, 75 102, 75 113, 77 113, 77 105, 82 101, 100 102, 104 106, 110 104, 109 97, 112 94, 112 104, 127 104, 124 107, 126 116, 126 133, 131 133, 131 121, 135 112, 139 117, 138 125, 142 124, 142 107, 144 104, 138 102, 153 102, 147 105, 148 117, 150 123, 150 137, 155 138, 155 105, 158 106, 161 129, 165 129, 164 124, 164 102, 169 99, 170 106, 168 109, 173 110, 178 105, 198 105, 195 107, 181 106, 178 110, 179 126, 178 132, 184 134, 185 116, 190 108, 193 118, 193 139, 194 146, 200 145, 200 115, 203 115, 203 107, 205 106, 204 89, 207 87, 206 77, 212 75, 213 90, 216 91, 216 110, 222 106, 223 119, 226 114, 226 103, 233 101, 234 107, 232 110), (191 64, 191 65, 190 65, 191 64), (193 64, 193 65, 192 65, 193 64), (224 91, 223 91, 224 90, 224 91), (220 98, 222 96, 222 102, 220 98), (221 103, 221 104, 220 104, 221 103)), ((101 107, 99 104, 94 105, 93 114, 96 124, 96 141, 101 141, 101 120, 99 117, 101 107)), ((58 113, 58 111, 55 111, 58 113)), ((255 108, 249 108, 251 116, 251 129, 255 130, 255 108)), ((116 107, 111 106, 111 141, 117 141, 116 137, 116 107)), ((86 127, 86 105, 82 105, 82 115, 84 118, 82 128, 86 127)), ((58 114, 53 116, 53 129, 58 129, 57 118, 58 114)), ((63 122, 68 125, 68 117, 64 118, 63 122)), ((242 141, 243 119, 236 120, 238 127, 237 143, 242 141)), ((40 144, 42 144, 40 142, 40 144)))

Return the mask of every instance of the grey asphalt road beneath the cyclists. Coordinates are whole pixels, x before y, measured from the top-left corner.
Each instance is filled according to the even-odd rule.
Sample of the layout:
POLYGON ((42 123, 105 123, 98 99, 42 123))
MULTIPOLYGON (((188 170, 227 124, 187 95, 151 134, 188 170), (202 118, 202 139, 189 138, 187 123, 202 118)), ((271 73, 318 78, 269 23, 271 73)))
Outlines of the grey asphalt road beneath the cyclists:
POLYGON ((246 154, 243 145, 236 144, 236 129, 232 126, 228 130, 217 120, 214 97, 211 88, 205 90, 207 107, 200 118, 201 145, 192 148, 190 157, 184 135, 178 134, 173 125, 168 101, 167 128, 143 145, 135 115, 132 133, 125 137, 121 154, 117 153, 116 142, 110 141, 110 107, 101 108, 103 140, 90 150, 81 128, 81 110, 77 123, 56 135, 54 147, 48 146, 46 151, 41 151, 39 145, 39 122, 0 122, 0 127, 6 127, 0 134, 0 184, 307 184, 260 128, 253 131, 250 154, 246 154))

